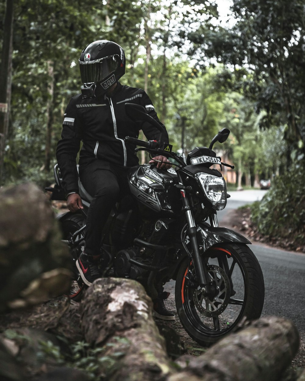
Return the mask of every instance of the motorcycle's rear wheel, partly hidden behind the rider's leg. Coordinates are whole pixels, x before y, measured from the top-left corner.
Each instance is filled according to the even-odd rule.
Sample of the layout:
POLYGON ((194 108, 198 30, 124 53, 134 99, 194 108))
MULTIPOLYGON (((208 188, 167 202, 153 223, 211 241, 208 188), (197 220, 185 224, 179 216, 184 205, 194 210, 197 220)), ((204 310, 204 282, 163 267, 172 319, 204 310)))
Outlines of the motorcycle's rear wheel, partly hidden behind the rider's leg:
POLYGON ((79 301, 82 298, 83 291, 87 288, 87 286, 83 283, 75 264, 83 250, 84 231, 75 236, 74 234, 85 225, 85 221, 80 215, 70 215, 60 222, 64 234, 64 242, 67 243, 70 248, 70 253, 72 256, 72 271, 74 274, 68 296, 74 301, 79 301))

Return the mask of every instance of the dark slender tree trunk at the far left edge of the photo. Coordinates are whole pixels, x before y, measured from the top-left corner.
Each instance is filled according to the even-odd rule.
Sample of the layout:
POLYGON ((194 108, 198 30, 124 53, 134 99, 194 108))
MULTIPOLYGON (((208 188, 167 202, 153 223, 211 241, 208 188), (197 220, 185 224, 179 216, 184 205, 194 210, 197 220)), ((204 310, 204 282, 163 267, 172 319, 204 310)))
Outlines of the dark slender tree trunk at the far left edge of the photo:
POLYGON ((0 186, 2 182, 5 140, 8 131, 8 117, 11 103, 13 5, 13 0, 6 0, 3 46, 0 66, 0 186))

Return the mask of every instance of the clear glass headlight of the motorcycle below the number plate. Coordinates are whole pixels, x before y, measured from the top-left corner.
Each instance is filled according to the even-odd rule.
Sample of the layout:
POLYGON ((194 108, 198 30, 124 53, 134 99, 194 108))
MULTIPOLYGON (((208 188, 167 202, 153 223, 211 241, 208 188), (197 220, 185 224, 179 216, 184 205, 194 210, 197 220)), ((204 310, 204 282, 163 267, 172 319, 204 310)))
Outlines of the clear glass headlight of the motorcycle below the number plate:
POLYGON ((196 174, 207 199, 213 209, 222 210, 226 206, 226 182, 223 177, 213 176, 204 172, 196 174))

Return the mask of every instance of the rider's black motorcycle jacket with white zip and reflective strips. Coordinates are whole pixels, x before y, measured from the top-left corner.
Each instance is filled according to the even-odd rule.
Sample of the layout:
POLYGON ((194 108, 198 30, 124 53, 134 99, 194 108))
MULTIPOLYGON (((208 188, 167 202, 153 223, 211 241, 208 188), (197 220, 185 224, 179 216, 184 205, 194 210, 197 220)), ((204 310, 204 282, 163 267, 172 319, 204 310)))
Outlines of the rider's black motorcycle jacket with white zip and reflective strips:
POLYGON ((148 122, 133 122, 125 113, 125 103, 144 106, 163 130, 161 141, 169 142, 165 126, 159 121, 152 101, 144 90, 123 86, 119 82, 111 97, 84 98, 77 94, 71 98, 63 121, 61 140, 56 158, 67 195, 79 192, 76 157, 80 149, 79 165, 99 159, 120 166, 138 165, 134 144, 124 142, 125 136, 138 138, 143 130, 148 140, 160 140, 160 131, 148 122))

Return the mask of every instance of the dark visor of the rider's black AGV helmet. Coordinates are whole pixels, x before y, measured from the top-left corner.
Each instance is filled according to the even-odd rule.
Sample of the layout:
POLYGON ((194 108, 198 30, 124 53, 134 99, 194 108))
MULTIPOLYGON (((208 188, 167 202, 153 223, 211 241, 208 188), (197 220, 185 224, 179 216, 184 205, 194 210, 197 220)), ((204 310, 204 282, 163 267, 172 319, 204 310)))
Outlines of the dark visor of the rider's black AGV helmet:
POLYGON ((84 85, 92 85, 103 81, 120 65, 119 54, 108 56, 94 61, 79 61, 80 77, 84 85))

